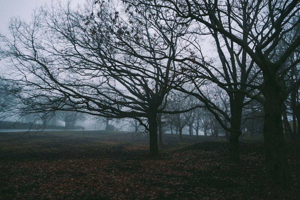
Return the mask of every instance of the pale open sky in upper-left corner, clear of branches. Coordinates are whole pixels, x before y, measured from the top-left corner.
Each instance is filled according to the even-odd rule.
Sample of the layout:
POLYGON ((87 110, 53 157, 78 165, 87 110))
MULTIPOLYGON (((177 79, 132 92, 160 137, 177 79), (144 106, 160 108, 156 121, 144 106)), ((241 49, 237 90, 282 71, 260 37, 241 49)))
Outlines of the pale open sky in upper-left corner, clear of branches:
MULTIPOLYGON (((30 21, 31 14, 35 7, 40 7, 47 3, 51 4, 52 0, 0 0, 0 32, 4 34, 7 32, 7 25, 12 16, 19 16, 20 19, 30 21)), ((53 0, 56 2, 57 0, 53 0)), ((61 0, 61 2, 67 0, 61 0)), ((85 0, 73 0, 72 4, 76 5, 78 2, 85 0)))

